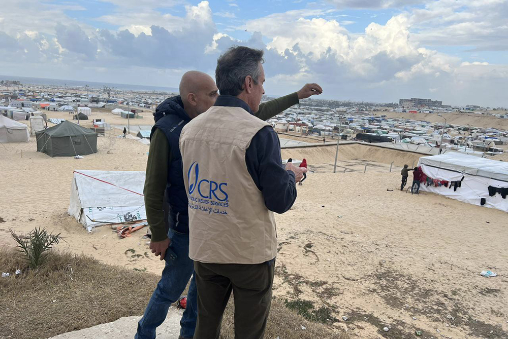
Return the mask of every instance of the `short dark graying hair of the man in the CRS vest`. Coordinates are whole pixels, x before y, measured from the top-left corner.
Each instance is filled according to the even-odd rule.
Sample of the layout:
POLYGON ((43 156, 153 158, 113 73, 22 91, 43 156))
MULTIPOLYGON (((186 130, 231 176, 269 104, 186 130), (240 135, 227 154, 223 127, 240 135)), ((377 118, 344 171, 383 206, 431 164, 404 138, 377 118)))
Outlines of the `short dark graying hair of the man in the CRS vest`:
POLYGON ((238 96, 243 91, 243 84, 247 76, 257 85, 261 76, 263 50, 256 50, 244 46, 229 48, 217 60, 215 68, 215 82, 220 95, 238 96))

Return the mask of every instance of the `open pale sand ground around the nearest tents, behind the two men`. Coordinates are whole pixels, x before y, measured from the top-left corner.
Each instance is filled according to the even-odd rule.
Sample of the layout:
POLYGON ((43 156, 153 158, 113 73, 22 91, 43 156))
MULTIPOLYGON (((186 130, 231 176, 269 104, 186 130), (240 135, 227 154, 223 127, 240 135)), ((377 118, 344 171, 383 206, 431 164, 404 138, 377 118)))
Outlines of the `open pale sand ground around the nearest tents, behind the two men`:
MULTIPOLYGON (((73 170, 145 169, 148 146, 137 141, 109 134, 98 149, 76 160, 37 153, 34 138, 0 144, 0 245, 14 246, 9 228, 44 227, 66 238, 60 250, 158 274, 164 265, 149 252, 145 230, 120 240, 108 227, 87 233, 67 214, 73 170)), ((305 157, 313 173, 294 207, 276 216, 274 295, 332 308, 353 337, 507 336, 506 213, 400 192, 400 167, 416 154, 353 144, 340 145, 339 155, 342 170, 333 174, 335 146, 282 151, 305 157), (487 269, 499 277, 480 276, 487 269)))

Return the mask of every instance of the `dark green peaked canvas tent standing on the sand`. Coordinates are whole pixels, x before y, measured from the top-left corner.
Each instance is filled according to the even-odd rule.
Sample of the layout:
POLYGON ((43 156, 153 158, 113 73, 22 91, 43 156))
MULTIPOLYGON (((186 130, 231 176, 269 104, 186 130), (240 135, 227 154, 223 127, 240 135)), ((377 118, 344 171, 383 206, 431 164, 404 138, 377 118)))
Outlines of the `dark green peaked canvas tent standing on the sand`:
POLYGON ((60 124, 36 132, 37 152, 50 157, 74 157, 97 153, 97 133, 63 121, 60 124))

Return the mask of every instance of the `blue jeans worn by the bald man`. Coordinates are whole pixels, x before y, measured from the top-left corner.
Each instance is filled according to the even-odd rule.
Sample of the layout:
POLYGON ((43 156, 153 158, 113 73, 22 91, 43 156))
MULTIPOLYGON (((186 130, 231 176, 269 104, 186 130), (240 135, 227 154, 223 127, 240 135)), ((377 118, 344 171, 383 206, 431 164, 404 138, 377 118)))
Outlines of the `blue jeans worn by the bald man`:
POLYGON ((158 282, 155 291, 153 291, 145 314, 138 323, 135 339, 155 338, 155 329, 166 320, 169 307, 181 296, 191 275, 192 280, 190 280, 187 294, 187 307, 180 320, 180 335, 184 338, 194 336, 198 306, 196 278, 195 274, 193 275, 194 261, 189 258, 189 236, 170 229, 168 237, 171 239, 169 247, 178 258, 170 262, 168 261, 169 257, 165 256, 166 267, 162 272, 161 280, 158 282))

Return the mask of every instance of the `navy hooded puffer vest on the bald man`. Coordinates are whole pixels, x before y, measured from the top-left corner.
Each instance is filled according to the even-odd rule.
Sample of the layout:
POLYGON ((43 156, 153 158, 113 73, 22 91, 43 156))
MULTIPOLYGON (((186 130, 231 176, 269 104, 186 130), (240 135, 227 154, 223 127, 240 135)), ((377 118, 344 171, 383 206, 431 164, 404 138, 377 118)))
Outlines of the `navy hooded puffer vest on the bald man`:
POLYGON ((171 150, 166 183, 166 199, 170 206, 169 227, 181 233, 188 233, 188 200, 183 185, 182 156, 178 140, 183 126, 190 118, 183 109, 180 96, 175 96, 157 106, 153 119, 155 125, 152 127, 150 138, 155 129, 160 129, 166 135, 171 150))

